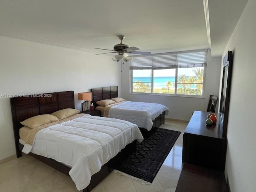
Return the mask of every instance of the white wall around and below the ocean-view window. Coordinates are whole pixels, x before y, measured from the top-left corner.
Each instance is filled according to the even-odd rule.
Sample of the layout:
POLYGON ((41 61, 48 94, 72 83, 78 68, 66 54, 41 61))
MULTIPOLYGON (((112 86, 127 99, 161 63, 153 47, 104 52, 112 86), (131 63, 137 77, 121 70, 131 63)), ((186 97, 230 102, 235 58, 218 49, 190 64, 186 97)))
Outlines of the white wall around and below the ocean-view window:
MULTIPOLYGON (((205 98, 189 98, 179 96, 130 94, 129 63, 124 62, 124 64, 122 64, 122 97, 131 101, 163 104, 170 109, 170 112, 166 118, 190 120, 192 112, 195 110, 207 110, 210 94, 218 96, 220 68, 221 58, 211 58, 211 50, 208 50, 205 98)), ((218 108, 216 108, 216 112, 218 112, 218 108)))

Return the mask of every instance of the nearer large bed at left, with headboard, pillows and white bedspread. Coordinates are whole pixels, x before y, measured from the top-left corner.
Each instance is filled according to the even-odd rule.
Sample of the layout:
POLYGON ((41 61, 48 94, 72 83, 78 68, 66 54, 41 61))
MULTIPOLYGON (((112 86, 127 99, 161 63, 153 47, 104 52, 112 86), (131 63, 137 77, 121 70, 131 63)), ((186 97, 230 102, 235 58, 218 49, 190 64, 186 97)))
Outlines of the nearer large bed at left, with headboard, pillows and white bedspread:
POLYGON ((22 156, 23 150, 71 176, 78 190, 83 192, 92 190, 112 171, 108 166, 109 161, 116 161, 116 158, 136 150, 136 140, 143 139, 138 127, 130 122, 112 121, 110 118, 78 112, 68 118, 58 116, 56 113, 63 110, 78 111, 74 109, 73 91, 14 97, 10 98, 10 102, 17 158, 22 156), (34 118, 42 116, 44 119, 47 116, 47 124, 35 125, 34 118), (35 132, 38 129, 31 136, 32 143, 30 139, 24 139, 22 134, 23 140, 20 138, 20 130, 24 130, 24 125, 31 129, 28 131, 25 128, 24 132, 35 132), (84 157, 84 153, 89 155, 84 157), (88 163, 90 168, 85 166, 88 163), (87 174, 88 171, 90 174, 87 174))

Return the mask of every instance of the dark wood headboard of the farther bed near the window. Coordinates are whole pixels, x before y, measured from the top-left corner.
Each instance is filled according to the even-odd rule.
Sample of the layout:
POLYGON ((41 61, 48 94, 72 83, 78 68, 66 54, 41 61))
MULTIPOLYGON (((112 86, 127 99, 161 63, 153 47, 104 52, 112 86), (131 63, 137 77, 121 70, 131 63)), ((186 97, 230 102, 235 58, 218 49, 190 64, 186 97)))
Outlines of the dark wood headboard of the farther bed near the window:
POLYGON ((92 103, 94 105, 94 108, 98 106, 96 104, 96 101, 118 97, 117 86, 93 88, 91 89, 91 92, 92 92, 92 103))

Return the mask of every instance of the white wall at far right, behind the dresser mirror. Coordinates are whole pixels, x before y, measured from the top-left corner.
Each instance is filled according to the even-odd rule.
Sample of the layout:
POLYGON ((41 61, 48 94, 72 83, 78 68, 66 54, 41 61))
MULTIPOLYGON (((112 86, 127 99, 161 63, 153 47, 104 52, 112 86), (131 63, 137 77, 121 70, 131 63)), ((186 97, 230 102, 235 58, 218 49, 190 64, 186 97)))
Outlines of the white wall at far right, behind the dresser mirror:
POLYGON ((223 53, 234 53, 225 169, 231 192, 256 191, 255 10, 249 0, 223 53))

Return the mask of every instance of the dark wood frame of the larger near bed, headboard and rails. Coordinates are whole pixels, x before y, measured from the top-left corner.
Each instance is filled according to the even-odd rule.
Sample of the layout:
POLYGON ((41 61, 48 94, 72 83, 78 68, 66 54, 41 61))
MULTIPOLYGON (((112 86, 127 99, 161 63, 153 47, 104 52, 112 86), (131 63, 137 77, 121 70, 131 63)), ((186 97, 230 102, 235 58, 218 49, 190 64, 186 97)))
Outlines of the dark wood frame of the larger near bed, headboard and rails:
MULTIPOLYGON (((10 98, 11 111, 12 111, 12 122, 14 129, 14 139, 16 146, 16 156, 17 158, 22 156, 22 148, 24 147, 20 144, 19 130, 23 126, 20 124, 21 121, 26 120, 32 116, 40 114, 51 114, 52 112, 65 109, 74 108, 74 91, 65 92, 54 92, 46 94, 33 94, 21 97, 10 98)), ((114 157, 113 160, 117 158, 122 158, 126 154, 130 154, 136 150, 136 140, 131 144, 128 144, 126 148, 121 150, 121 152, 114 157)), ((46 158, 44 156, 39 156, 33 153, 29 153, 30 156, 48 164, 54 169, 70 176, 68 172, 70 168, 61 164, 53 159, 46 158)), ((98 183, 100 183, 113 169, 107 164, 104 164, 101 170, 94 174, 91 178, 89 186, 83 189, 83 192, 90 192, 98 183)))

